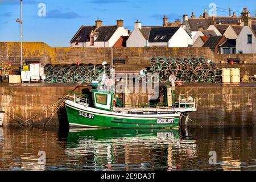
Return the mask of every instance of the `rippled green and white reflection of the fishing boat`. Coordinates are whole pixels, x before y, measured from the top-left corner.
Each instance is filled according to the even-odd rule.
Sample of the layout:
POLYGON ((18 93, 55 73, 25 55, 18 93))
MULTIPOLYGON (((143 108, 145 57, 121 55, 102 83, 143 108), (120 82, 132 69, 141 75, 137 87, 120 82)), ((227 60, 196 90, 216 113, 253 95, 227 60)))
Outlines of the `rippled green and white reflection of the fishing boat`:
POLYGON ((172 170, 181 167, 179 155, 196 156, 196 142, 181 139, 179 130, 72 129, 67 144, 66 154, 84 156, 84 169, 172 170))

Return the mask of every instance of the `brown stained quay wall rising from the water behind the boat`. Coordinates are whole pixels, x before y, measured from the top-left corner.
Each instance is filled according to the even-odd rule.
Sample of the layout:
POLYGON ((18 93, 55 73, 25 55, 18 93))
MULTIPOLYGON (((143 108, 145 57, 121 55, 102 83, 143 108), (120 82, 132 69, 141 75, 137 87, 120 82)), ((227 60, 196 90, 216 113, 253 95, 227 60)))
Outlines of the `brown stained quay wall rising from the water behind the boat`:
MULTIPOLYGON (((200 125, 225 127, 249 126, 256 123, 256 90, 255 83, 241 84, 183 84, 176 87, 175 94, 188 94, 196 97, 197 111, 190 113, 189 118, 200 125)), ((0 103, 4 107, 4 126, 16 126, 20 121, 11 113, 22 119, 28 119, 46 109, 59 98, 67 95, 76 84, 0 84, 0 103), (14 118, 14 119, 13 119, 14 118)), ((84 87, 77 88, 81 91, 84 87)), ((148 94, 127 93, 125 103, 131 105, 148 104, 148 94)), ((33 126, 42 126, 55 107, 45 111, 32 120, 33 126)), ((49 125, 58 126, 66 116, 59 110, 49 125), (61 117, 60 117, 61 116, 61 117)), ((189 125, 195 124, 189 122, 189 125)))

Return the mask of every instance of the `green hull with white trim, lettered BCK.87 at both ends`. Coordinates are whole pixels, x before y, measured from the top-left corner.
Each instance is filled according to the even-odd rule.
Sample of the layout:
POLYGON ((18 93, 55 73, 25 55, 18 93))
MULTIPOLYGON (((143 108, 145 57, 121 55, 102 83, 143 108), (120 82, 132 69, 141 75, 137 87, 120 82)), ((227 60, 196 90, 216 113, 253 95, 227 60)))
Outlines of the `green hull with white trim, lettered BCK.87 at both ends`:
POLYGON ((95 128, 179 128, 180 114, 123 114, 65 101, 71 127, 95 128))

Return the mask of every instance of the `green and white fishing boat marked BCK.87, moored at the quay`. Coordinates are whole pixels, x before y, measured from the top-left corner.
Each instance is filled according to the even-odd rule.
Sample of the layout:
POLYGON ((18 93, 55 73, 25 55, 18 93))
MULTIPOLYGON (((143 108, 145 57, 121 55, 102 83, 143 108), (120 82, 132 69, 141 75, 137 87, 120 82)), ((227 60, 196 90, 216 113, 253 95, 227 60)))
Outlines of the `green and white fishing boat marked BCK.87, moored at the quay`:
MULTIPOLYGON (((172 96, 168 88, 167 96, 172 96)), ((68 96, 65 100, 68 122, 71 127, 94 128, 169 128, 181 126, 181 117, 196 111, 195 98, 179 97, 178 102, 172 102, 162 107, 115 107, 115 92, 101 89, 91 89, 90 97, 81 97, 78 93, 68 96)), ((168 98, 168 103, 170 99, 168 98)))

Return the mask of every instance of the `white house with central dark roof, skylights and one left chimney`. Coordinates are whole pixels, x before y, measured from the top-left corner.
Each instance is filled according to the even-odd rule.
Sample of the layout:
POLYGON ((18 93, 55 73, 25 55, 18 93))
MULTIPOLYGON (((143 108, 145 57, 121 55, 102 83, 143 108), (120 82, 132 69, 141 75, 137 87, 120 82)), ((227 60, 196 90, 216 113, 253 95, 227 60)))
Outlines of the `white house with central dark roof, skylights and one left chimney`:
POLYGON ((142 27, 134 23, 134 30, 126 42, 127 47, 188 47, 192 38, 183 27, 142 27))

